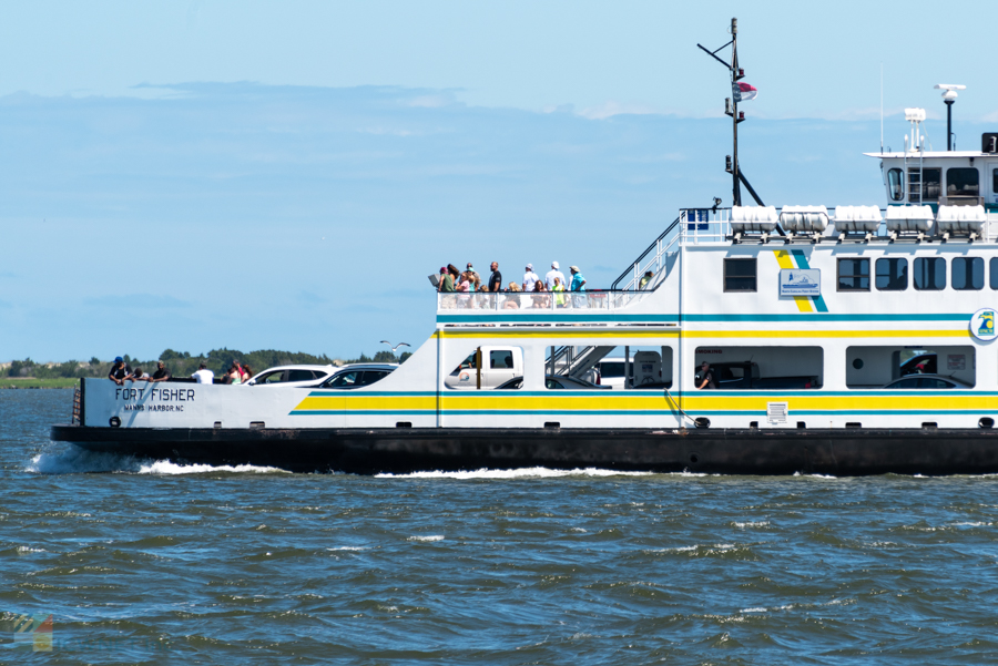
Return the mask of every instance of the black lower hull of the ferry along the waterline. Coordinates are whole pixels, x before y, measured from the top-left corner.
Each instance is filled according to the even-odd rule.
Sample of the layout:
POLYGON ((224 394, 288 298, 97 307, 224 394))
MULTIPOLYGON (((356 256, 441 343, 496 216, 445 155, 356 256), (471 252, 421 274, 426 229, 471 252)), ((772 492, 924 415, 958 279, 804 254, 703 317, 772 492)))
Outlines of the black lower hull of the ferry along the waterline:
POLYGON ((543 467, 717 474, 998 473, 998 430, 143 429, 55 426, 89 451, 375 474, 543 467))

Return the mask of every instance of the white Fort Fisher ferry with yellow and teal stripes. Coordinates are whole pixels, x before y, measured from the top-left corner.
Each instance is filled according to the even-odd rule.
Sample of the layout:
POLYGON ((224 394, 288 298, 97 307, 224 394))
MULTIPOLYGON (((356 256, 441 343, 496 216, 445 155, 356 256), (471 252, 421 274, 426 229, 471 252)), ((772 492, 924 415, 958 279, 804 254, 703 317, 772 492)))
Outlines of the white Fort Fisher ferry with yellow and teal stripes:
MULTIPOLYGON (((681 209, 609 290, 438 294, 432 335, 376 383, 83 379, 52 439, 359 473, 996 473, 998 133, 927 151, 924 111, 906 115, 905 150, 868 154, 884 207, 681 209), (521 381, 482 383, 497 352, 521 381), (611 355, 634 366, 623 388, 552 386, 611 355)), ((737 170, 735 153, 740 204, 737 170)))

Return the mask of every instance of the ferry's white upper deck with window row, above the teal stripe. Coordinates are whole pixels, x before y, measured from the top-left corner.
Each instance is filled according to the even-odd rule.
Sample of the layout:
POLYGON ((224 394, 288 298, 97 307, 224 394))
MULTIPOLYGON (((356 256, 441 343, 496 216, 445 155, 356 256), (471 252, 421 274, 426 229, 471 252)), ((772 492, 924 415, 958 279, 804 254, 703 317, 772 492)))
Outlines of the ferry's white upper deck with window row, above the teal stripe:
POLYGON ((982 207, 690 208, 611 289, 438 294, 437 327, 965 318, 995 288, 998 213, 982 207))

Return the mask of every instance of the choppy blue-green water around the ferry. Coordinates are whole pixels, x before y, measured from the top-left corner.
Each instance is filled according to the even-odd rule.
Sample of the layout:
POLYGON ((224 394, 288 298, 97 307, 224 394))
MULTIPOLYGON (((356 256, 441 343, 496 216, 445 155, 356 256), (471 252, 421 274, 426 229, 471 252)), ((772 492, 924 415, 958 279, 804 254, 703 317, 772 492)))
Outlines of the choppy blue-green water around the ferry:
POLYGON ((998 478, 289 474, 48 440, 0 390, 0 663, 995 658, 998 478), (52 616, 51 653, 13 642, 52 616))

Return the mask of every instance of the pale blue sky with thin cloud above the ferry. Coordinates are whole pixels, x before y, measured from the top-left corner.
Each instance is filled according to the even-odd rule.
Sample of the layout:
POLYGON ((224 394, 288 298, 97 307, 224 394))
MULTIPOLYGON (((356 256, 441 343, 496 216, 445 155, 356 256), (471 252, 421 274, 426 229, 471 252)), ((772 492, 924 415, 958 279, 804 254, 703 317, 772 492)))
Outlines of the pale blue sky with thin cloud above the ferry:
MULTIPOLYGON (((8 7, 0 360, 418 345, 444 263, 609 286, 678 207, 730 198, 725 72, 695 43, 724 43, 732 7, 8 7)), ((859 155, 882 62, 888 144, 902 107, 941 116, 939 82, 968 85, 958 142, 998 126, 987 28, 937 8, 739 12, 766 203, 883 202, 859 155), (906 60, 888 38, 927 16, 961 39, 906 60)))

